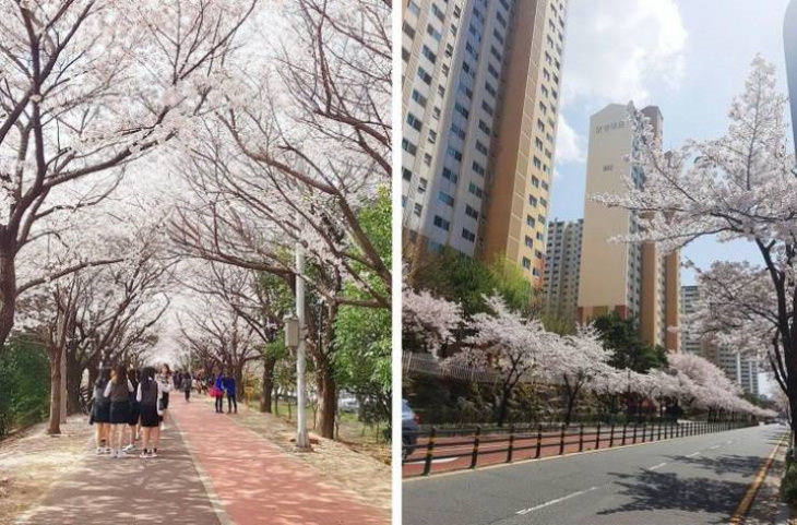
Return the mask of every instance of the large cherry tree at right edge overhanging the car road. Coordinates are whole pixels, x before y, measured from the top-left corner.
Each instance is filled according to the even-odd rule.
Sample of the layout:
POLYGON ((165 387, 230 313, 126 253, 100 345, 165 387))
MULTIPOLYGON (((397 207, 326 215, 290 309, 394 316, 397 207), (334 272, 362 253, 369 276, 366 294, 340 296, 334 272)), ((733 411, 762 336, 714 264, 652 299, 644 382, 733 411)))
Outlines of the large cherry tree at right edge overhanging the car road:
POLYGON ((641 231, 623 237, 626 241, 654 241, 673 249, 716 236, 756 246, 760 266, 728 263, 712 269, 709 281, 731 286, 714 287, 706 302, 717 317, 731 313, 731 327, 754 326, 754 336, 768 345, 775 379, 795 408, 797 178, 785 110, 774 68, 761 57, 753 60, 745 92, 730 108, 730 124, 717 139, 689 141, 664 153, 650 122, 631 109, 638 145, 631 162, 645 174, 644 184, 637 189, 629 180, 623 194, 595 199, 640 212, 641 231))

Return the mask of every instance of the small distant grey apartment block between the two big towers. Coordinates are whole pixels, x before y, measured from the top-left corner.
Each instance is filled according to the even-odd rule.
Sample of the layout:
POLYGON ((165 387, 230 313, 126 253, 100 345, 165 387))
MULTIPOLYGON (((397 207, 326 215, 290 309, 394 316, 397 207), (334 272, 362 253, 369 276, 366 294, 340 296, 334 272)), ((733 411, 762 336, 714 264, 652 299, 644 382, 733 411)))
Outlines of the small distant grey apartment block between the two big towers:
POLYGON ((548 223, 545 252, 545 308, 551 315, 575 320, 584 219, 548 223))

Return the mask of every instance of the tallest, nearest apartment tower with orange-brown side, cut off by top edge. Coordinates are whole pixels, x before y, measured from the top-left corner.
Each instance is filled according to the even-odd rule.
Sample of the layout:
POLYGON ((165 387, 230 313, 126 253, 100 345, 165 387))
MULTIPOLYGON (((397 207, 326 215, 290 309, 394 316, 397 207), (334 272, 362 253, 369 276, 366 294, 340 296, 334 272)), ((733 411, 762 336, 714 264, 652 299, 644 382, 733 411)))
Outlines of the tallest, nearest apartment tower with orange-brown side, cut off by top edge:
POLYGON ((403 226, 539 285, 564 0, 403 3, 403 226))

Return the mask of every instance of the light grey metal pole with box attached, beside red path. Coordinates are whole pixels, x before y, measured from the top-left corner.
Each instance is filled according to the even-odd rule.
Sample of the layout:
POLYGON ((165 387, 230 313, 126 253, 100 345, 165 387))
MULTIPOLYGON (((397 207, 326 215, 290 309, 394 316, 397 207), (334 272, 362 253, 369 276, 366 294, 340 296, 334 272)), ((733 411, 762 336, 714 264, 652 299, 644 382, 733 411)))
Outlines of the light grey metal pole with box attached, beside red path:
POLYGON ((300 243, 296 243, 296 314, 285 318, 285 344, 296 348, 296 449, 310 451, 310 439, 307 434, 307 387, 305 373, 307 369, 307 351, 305 335, 305 252, 300 243))

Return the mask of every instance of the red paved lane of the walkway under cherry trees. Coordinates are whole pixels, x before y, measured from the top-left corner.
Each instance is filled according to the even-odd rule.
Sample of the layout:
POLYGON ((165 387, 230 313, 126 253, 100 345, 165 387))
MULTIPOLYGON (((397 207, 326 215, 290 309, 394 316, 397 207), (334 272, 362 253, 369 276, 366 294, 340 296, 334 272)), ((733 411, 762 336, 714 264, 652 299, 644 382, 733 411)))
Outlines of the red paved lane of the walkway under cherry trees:
POLYGON ((170 411, 212 484, 224 521, 236 525, 390 523, 388 512, 321 481, 311 467, 238 425, 235 415, 215 414, 205 403, 176 402, 170 411))

